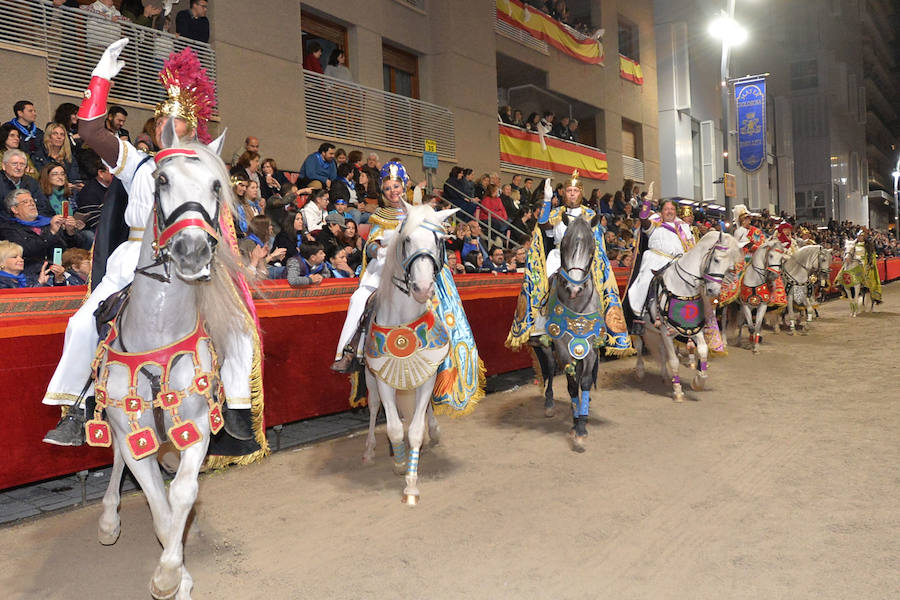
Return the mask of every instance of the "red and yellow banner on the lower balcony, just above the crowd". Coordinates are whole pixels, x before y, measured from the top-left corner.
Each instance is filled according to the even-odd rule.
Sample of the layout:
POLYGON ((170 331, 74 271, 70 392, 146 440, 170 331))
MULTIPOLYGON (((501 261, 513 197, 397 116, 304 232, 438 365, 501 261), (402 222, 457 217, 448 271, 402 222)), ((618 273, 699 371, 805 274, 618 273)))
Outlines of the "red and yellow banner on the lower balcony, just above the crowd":
POLYGON ((606 153, 580 144, 573 144, 555 137, 545 136, 546 148, 541 139, 518 127, 500 125, 500 160, 521 165, 569 174, 578 169, 589 179, 609 179, 606 153))

